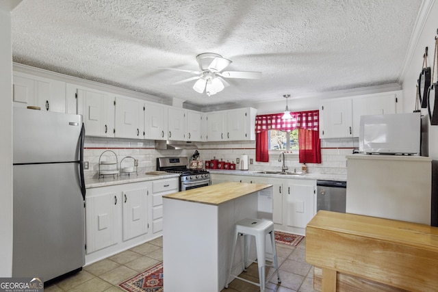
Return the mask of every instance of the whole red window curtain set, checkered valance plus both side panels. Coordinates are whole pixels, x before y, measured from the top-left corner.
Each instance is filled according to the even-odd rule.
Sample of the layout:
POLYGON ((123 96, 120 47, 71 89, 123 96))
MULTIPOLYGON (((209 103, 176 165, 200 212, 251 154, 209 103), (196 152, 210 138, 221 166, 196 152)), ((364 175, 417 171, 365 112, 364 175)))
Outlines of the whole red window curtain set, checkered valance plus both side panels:
POLYGON ((296 111, 292 118, 282 120, 279 114, 259 115, 255 118, 255 161, 268 162, 268 131, 298 130, 300 163, 321 163, 320 127, 318 110, 296 111))

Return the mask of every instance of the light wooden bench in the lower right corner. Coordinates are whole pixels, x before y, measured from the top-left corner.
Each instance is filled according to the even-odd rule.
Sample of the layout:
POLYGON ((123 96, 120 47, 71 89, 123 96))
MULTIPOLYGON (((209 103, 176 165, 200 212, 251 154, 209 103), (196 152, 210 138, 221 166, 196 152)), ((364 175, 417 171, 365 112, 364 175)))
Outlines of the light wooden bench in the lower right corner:
POLYGON ((438 228, 319 211, 307 224, 306 261, 322 269, 315 289, 324 292, 438 291, 438 228))

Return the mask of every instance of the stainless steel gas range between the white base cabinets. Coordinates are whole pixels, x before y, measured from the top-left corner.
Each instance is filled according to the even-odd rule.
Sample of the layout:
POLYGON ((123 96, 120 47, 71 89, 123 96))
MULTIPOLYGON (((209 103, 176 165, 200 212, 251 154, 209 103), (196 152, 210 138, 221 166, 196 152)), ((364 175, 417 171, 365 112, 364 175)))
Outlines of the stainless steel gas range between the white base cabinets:
POLYGON ((207 170, 189 169, 187 157, 159 157, 157 158, 157 170, 180 174, 179 190, 187 191, 196 187, 211 185, 210 173, 207 170))

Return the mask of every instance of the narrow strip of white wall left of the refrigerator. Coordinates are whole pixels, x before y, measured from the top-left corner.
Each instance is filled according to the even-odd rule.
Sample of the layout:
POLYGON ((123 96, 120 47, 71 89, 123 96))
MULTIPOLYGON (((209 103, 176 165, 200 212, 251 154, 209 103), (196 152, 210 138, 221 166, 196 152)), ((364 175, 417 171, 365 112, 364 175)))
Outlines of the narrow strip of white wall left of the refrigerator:
POLYGON ((0 277, 12 276, 11 16, 0 7, 0 277))

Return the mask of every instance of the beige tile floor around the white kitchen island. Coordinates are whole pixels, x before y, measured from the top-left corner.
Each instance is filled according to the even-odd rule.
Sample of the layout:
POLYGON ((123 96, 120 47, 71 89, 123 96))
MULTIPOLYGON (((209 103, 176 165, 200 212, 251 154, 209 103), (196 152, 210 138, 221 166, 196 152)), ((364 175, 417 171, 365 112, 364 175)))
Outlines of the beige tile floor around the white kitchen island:
MULTIPOLYGON (((159 237, 120 252, 102 261, 83 267, 78 274, 44 287, 44 292, 78 291, 124 291, 118 287, 120 282, 152 267, 163 260, 163 239, 159 237)), ((272 279, 266 286, 266 292, 307 292, 313 290, 313 268, 305 261, 305 240, 296 248, 276 244, 279 260, 281 284, 276 283, 273 269, 267 271, 272 279)), ((242 278, 258 282, 257 265, 251 265, 242 278)), ((166 278, 164 278, 166 280, 166 278)), ((257 292, 259 288, 239 279, 229 284, 223 292, 257 292)))

